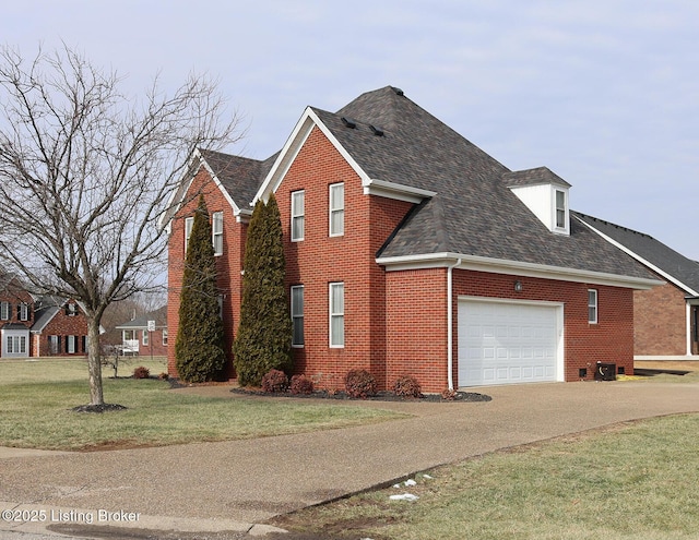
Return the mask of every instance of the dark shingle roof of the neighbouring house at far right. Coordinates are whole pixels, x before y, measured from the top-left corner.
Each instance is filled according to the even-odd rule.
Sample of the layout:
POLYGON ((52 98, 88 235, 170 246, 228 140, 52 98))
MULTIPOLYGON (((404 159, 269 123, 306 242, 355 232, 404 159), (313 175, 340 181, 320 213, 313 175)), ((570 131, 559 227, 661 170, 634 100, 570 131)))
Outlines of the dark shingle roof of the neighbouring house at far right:
MULTIPOLYGON (((653 237, 596 217, 576 213, 581 221, 624 245, 639 257, 661 269, 675 280, 699 292, 699 263, 687 259, 653 237)), ((688 291, 687 291, 688 292, 688 291)))

